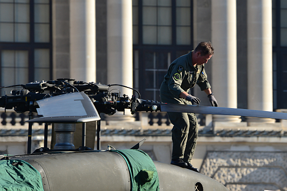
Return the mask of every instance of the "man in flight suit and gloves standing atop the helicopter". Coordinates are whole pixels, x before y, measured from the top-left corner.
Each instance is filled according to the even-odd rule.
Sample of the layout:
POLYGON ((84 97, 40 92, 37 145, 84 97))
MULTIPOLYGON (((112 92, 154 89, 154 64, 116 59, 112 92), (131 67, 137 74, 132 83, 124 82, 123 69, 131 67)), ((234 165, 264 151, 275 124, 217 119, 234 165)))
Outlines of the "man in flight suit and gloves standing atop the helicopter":
MULTIPOLYGON (((194 87, 197 83, 200 89, 207 94, 211 106, 217 107, 218 103, 211 92, 211 86, 204 70, 204 64, 213 55, 213 50, 210 42, 201 42, 194 51, 174 60, 161 85, 161 101, 170 104, 199 104, 200 100, 188 93, 189 88, 194 87)), ((190 163, 198 134, 195 114, 168 112, 168 116, 174 125, 171 164, 199 172, 190 163)))

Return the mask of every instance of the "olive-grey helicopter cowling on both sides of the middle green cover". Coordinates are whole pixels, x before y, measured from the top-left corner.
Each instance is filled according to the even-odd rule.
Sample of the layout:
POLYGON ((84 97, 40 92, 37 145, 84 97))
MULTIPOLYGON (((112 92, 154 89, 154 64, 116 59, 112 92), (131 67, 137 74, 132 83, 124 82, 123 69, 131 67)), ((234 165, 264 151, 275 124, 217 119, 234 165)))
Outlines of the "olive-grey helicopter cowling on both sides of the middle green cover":
MULTIPOLYGON (((125 159, 116 152, 51 152, 15 156, 36 168, 44 191, 130 191, 131 179, 125 159)), ((220 182, 198 172, 153 161, 161 191, 228 191, 220 182)), ((134 189, 133 189, 134 190, 134 189)))

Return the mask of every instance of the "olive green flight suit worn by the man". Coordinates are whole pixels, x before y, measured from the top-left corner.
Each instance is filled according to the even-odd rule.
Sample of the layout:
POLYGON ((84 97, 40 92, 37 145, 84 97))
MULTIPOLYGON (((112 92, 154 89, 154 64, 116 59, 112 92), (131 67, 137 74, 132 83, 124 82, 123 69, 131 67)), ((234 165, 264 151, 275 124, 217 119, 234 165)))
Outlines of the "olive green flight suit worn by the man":
MULTIPOLYGON (((192 52, 174 60, 160 88, 161 101, 170 104, 192 103, 179 98, 180 93, 189 91, 197 83, 201 90, 210 88, 203 65, 192 65, 192 52)), ((169 119, 174 125, 172 129, 172 159, 183 159, 189 162, 193 156, 198 135, 198 124, 193 113, 168 112, 169 119)))

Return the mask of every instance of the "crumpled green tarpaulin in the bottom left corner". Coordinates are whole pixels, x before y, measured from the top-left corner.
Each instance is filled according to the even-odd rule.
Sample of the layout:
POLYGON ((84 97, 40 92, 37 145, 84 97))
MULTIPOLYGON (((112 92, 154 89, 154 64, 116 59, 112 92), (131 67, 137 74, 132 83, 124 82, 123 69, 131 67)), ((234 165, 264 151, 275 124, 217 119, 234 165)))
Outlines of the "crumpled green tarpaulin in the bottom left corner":
POLYGON ((43 191, 40 173, 23 160, 0 160, 0 191, 43 191))

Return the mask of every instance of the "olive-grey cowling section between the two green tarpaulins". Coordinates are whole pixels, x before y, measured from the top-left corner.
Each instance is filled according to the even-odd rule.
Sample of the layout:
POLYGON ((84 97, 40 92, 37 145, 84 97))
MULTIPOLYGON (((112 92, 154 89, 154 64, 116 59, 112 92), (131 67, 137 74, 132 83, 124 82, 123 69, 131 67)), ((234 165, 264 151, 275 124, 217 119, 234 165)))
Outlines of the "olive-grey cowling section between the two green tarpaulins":
POLYGON ((130 190, 124 158, 115 152, 78 152, 20 157, 36 168, 45 191, 130 190))

